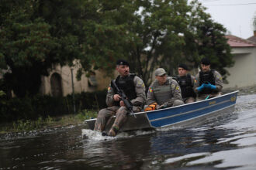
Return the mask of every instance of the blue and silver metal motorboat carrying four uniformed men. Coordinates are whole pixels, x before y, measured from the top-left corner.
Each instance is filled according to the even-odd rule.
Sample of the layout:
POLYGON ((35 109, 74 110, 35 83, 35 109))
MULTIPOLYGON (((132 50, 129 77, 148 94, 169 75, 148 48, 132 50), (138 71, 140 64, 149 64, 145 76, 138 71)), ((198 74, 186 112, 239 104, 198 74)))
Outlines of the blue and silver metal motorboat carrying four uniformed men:
MULTIPOLYGON (((196 122, 203 121, 209 117, 216 117, 217 114, 230 113, 234 110, 237 101, 237 93, 223 94, 220 97, 213 97, 207 100, 197 101, 192 104, 183 104, 177 107, 169 107, 160 110, 142 111, 136 113, 136 117, 129 115, 126 124, 120 131, 134 131, 144 129, 165 128, 169 126, 189 126, 196 122)), ((109 131, 115 117, 109 120, 106 131, 109 131)), ((87 128, 94 128, 96 119, 85 121, 87 128)))

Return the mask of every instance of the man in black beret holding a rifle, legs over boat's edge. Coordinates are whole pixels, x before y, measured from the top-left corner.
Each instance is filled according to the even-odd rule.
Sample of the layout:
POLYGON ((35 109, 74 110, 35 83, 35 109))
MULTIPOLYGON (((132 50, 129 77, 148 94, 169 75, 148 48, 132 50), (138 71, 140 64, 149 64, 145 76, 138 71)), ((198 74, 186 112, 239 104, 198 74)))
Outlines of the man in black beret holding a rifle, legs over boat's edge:
MULTIPOLYGON (((116 70, 119 76, 116 77, 114 82, 119 90, 123 90, 130 104, 132 105, 133 112, 139 112, 143 109, 146 102, 145 85, 143 80, 136 74, 130 73, 129 63, 124 59, 119 59, 116 62, 116 70)), ((123 100, 121 100, 117 89, 111 83, 106 95, 107 108, 99 110, 97 120, 95 121, 95 131, 101 131, 102 135, 116 136, 119 128, 126 122, 127 109, 123 100), (116 119, 110 128, 109 133, 106 134, 105 128, 109 117, 116 115, 116 119)))

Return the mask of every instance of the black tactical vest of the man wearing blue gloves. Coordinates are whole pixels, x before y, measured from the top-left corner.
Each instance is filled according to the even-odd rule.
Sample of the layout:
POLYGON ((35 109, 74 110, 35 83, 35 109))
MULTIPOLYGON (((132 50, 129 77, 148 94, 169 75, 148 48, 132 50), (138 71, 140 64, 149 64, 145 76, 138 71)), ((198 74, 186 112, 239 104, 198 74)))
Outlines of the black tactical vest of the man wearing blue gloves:
MULTIPOLYGON (((199 72, 199 79, 200 79, 199 85, 201 86, 202 83, 207 83, 207 82, 215 85, 215 78, 214 78, 214 74, 213 74, 214 71, 215 70, 210 70, 207 72, 200 71, 199 72)), ((200 94, 207 94, 207 93, 213 93, 213 90, 205 88, 202 91, 200 91, 200 94)))

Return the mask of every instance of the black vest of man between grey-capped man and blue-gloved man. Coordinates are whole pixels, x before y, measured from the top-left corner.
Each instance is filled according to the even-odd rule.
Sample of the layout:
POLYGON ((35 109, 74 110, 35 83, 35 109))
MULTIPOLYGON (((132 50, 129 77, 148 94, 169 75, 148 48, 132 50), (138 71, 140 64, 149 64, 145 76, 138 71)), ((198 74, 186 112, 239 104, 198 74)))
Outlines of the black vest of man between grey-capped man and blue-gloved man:
POLYGON ((187 76, 178 76, 177 81, 182 90, 182 98, 195 97, 196 94, 193 90, 191 75, 188 73, 187 76))

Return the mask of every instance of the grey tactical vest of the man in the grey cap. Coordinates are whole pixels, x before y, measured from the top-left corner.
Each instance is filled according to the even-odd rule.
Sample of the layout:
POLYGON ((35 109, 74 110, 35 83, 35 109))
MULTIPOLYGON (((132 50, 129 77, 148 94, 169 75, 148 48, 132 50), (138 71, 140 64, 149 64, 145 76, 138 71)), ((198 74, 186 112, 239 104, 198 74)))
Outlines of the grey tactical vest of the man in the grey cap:
POLYGON ((168 79, 167 83, 164 83, 164 85, 161 86, 157 83, 154 83, 153 93, 155 99, 157 100, 157 104, 159 105, 164 104, 164 102, 171 99, 171 97, 173 97, 171 93, 171 79, 168 79))

